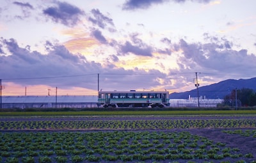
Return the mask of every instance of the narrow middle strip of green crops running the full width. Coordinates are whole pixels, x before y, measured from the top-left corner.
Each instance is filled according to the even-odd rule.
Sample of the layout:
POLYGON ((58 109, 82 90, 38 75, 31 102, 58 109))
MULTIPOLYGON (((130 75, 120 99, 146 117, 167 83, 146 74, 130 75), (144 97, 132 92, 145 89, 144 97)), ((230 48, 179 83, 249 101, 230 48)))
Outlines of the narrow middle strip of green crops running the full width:
POLYGON ((0 130, 23 129, 174 129, 256 127, 256 119, 1 121, 0 130))

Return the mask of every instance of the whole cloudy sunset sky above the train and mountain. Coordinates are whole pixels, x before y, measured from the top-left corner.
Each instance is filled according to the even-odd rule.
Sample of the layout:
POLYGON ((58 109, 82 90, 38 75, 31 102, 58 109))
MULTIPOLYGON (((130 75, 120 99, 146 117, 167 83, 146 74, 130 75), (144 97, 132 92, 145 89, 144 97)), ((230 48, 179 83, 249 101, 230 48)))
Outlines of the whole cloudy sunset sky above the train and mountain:
POLYGON ((195 89, 196 74, 200 87, 254 78, 255 6, 255 0, 3 0, 2 94, 172 93, 195 89))

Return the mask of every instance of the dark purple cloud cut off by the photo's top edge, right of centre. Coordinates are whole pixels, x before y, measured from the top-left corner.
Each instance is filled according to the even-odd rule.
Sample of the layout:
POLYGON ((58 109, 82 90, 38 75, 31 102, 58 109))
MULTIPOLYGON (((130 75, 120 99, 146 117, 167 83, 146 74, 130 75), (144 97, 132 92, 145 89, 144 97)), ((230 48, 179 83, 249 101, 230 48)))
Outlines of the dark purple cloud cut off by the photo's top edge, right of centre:
POLYGON ((154 4, 161 4, 168 1, 174 3, 185 3, 186 1, 192 1, 196 3, 209 3, 212 0, 127 0, 123 6, 123 10, 137 10, 137 9, 147 9, 154 4))

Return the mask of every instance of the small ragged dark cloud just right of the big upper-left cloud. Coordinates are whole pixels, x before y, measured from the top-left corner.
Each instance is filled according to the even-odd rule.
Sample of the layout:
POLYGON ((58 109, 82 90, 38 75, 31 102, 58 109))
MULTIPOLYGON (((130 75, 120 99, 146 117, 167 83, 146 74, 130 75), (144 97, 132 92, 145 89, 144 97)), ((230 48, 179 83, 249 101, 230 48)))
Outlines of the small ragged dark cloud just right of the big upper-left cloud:
POLYGON ((107 25, 114 26, 113 20, 100 13, 99 9, 93 9, 93 17, 89 17, 88 20, 98 27, 104 29, 107 25))

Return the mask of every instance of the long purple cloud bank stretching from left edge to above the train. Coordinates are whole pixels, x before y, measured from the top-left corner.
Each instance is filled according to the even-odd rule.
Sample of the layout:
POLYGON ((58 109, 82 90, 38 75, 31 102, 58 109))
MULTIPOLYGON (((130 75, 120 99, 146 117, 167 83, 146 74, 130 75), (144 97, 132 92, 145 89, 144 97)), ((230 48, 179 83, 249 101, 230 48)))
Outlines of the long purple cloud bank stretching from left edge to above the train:
MULTIPOLYGON (((83 87, 97 90, 97 74, 100 74, 100 89, 129 90, 157 87, 166 75, 156 69, 145 71, 135 68, 125 70, 116 67, 111 62, 102 64, 88 61, 83 55, 70 53, 65 46, 53 45, 47 41, 49 52, 43 55, 31 52, 29 48, 22 48, 15 39, 1 39, 0 45, 10 52, 10 55, 0 55, 0 76, 3 82, 12 81, 19 85, 49 85, 68 89, 83 87), (150 78, 145 78, 149 75, 150 78), (12 80, 16 79, 16 80, 12 80), (131 83, 136 82, 136 85, 131 83)), ((115 55, 109 55, 113 62, 118 61, 115 55)))

